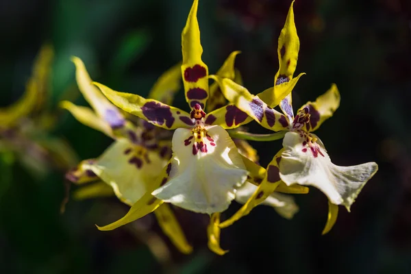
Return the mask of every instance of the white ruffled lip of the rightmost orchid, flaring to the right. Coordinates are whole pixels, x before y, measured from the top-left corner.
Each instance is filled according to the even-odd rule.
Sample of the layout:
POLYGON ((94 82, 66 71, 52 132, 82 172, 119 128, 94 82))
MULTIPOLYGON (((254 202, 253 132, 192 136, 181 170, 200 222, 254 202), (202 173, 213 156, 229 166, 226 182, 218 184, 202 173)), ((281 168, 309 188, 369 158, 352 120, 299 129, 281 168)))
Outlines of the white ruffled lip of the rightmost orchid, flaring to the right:
POLYGON ((319 188, 329 201, 349 210, 362 187, 377 172, 375 162, 357 166, 336 166, 331 162, 321 140, 308 147, 306 138, 288 132, 283 140, 284 152, 279 162, 279 175, 290 186, 301 184, 319 188))

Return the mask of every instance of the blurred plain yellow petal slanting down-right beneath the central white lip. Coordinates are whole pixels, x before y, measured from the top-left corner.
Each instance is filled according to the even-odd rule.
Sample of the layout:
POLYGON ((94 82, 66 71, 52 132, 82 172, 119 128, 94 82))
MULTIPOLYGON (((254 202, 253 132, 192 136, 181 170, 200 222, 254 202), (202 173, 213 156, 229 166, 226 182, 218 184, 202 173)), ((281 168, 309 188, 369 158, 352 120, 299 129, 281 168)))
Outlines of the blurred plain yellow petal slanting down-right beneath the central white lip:
POLYGON ((162 231, 170 238, 175 247, 184 254, 191 253, 192 246, 188 244, 182 227, 180 227, 170 206, 163 203, 154 211, 154 214, 157 217, 158 224, 162 231))

